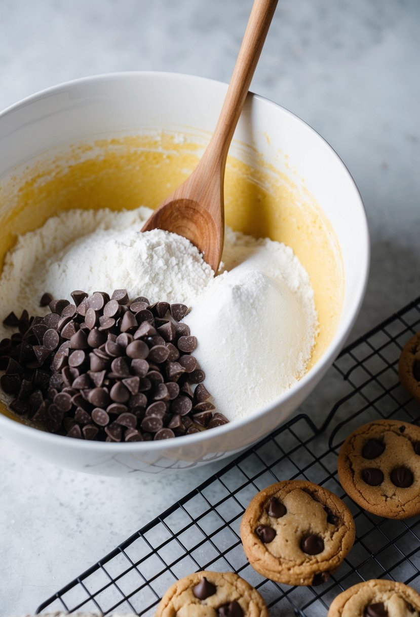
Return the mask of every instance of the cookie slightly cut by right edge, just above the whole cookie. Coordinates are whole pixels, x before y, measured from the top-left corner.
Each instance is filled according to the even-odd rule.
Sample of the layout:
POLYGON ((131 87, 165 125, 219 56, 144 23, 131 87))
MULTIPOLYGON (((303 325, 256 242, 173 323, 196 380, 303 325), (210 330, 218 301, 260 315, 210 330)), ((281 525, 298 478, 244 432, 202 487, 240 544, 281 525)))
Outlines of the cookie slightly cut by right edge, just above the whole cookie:
POLYGON ((397 420, 363 424, 341 446, 338 475, 344 491, 372 514, 419 514, 420 428, 397 420))

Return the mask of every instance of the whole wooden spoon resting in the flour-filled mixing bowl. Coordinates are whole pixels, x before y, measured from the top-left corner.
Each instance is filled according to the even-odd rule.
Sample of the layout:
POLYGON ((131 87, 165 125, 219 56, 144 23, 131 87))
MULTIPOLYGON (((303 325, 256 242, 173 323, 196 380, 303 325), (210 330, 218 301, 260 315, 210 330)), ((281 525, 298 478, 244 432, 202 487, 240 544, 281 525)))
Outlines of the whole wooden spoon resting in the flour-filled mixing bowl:
POLYGON ((142 231, 161 229, 188 238, 217 272, 224 242, 223 183, 227 151, 256 69, 277 0, 255 0, 225 101, 198 166, 155 210, 142 231))

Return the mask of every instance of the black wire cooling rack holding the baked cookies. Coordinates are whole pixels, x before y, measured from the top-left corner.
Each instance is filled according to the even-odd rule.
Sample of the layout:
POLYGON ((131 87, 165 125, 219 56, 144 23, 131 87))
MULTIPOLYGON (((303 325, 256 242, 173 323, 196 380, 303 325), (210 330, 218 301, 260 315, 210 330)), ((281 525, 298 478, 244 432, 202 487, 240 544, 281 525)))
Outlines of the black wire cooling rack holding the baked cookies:
POLYGON ((420 297, 347 347, 334 363, 345 394, 318 428, 299 415, 247 450, 140 529, 57 594, 38 613, 113 610, 151 616, 166 589, 196 570, 235 571, 256 587, 270 615, 325 617, 342 590, 370 578, 403 581, 420 590, 420 517, 390 521, 353 503, 337 480, 337 453, 365 422, 420 420, 420 405, 398 381, 398 357, 420 329, 420 297), (315 439, 330 431, 329 447, 315 439), (244 509, 264 487, 308 479, 335 492, 355 519, 355 544, 334 576, 318 587, 281 585, 257 574, 242 549, 244 509))

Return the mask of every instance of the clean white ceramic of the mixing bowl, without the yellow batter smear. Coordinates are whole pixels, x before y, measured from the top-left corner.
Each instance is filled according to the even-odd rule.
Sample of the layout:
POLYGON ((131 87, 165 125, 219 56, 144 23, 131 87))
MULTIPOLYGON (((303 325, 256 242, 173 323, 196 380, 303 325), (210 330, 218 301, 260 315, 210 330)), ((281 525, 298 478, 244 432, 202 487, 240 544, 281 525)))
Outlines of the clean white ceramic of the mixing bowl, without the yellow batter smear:
MULTIPOLYGON (((15 165, 52 147, 85 138, 154 128, 210 132, 225 89, 224 84, 203 78, 145 72, 84 78, 42 91, 0 115, 0 180, 15 165)), ((78 471, 105 475, 134 470, 169 473, 248 447, 285 421, 310 394, 341 349, 360 309, 369 266, 365 211, 349 172, 333 149, 282 107, 249 95, 235 133, 235 154, 241 150, 238 141, 256 147, 268 160, 274 160, 278 150, 287 155, 290 167, 305 178, 307 189, 336 231, 344 263, 345 298, 336 335, 321 360, 296 386, 250 418, 173 441, 79 441, 36 431, 0 416, 2 436, 14 439, 27 452, 78 471), (270 136, 270 144, 265 135, 270 136)))

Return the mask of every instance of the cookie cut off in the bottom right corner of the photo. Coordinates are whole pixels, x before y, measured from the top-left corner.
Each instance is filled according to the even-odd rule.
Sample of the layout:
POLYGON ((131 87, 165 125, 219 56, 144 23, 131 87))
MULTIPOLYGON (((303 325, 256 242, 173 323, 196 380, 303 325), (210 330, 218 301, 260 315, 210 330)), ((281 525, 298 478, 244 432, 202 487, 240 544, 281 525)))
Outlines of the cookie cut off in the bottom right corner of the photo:
POLYGON ((328 617, 419 617, 420 595, 402 582, 360 582, 334 598, 328 617))

